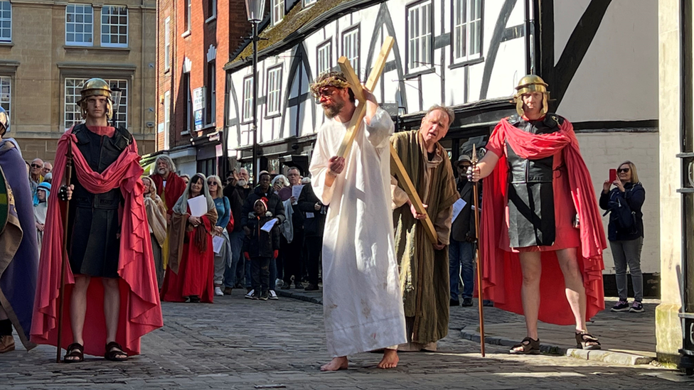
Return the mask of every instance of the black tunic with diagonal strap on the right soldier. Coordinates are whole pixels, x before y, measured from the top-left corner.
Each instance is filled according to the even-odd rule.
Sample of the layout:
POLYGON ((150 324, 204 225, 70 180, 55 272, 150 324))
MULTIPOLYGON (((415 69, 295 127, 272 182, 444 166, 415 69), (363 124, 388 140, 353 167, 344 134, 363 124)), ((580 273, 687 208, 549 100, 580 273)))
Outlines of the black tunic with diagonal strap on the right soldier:
MULTIPOLYGON (((514 115, 508 123, 533 134, 559 131, 563 119, 548 114, 537 121, 514 115)), ((551 246, 555 242, 552 179, 554 156, 529 160, 518 156, 506 141, 508 158, 508 238, 513 248, 551 246)))

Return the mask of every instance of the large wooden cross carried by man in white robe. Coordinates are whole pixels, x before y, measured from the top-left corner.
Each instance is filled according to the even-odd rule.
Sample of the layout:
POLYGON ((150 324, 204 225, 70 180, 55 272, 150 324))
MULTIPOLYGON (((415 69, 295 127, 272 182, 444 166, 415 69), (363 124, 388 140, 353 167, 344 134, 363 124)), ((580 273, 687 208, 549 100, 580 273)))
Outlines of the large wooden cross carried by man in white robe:
MULTIPOLYGON (((363 90, 365 88, 371 92, 375 88, 378 78, 380 77, 381 73, 383 73, 385 61, 388 59, 388 54, 390 53, 390 49, 393 48, 394 43, 395 39, 393 39, 393 37, 389 36, 385 38, 385 42, 383 42, 383 46, 381 46, 380 53, 378 53, 378 58, 376 58, 375 65, 369 74, 365 87, 361 86, 359 77, 357 77, 356 73, 352 69, 348 58, 342 56, 339 60, 337 60, 338 65, 340 65, 340 69, 350 84, 351 90, 354 93, 354 98, 359 101, 359 105, 356 107, 356 112, 352 116, 352 120, 349 122, 347 133, 342 139, 342 143, 338 149, 338 156, 347 159, 347 156, 349 155, 352 148, 352 143, 357 131, 359 130, 359 125, 366 116, 366 100, 364 98, 363 90)), ((417 195, 417 188, 415 188, 415 185, 412 184, 410 175, 407 175, 405 166, 402 165, 400 156, 397 156, 397 151, 395 151, 395 148, 393 148, 392 143, 390 144, 390 160, 390 170, 397 177, 398 183, 402 185, 402 189, 405 190, 407 196, 410 197, 410 202, 412 202, 412 205, 415 205, 415 210, 426 216, 424 220, 421 220, 421 222, 425 227, 427 238, 429 238, 429 241, 432 242, 432 244, 438 244, 439 238, 436 234, 436 230, 434 229, 434 224, 427 214, 427 209, 425 209, 422 199, 419 195, 417 195)))

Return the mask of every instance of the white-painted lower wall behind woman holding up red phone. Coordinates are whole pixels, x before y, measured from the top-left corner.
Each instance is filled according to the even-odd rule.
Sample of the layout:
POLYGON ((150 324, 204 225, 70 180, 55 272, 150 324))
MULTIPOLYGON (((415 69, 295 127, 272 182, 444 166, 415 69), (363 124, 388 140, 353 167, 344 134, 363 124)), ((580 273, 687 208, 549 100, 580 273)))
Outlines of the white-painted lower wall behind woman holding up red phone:
MULTIPOLYGON (((658 133, 579 133, 583 159, 593 181, 596 198, 609 178, 609 169, 617 168, 626 160, 636 165, 639 180, 646 190, 644 212, 644 248, 641 251, 641 270, 660 272, 660 185, 658 174, 658 133)), ((604 212, 604 210, 600 210, 604 212)), ((607 237, 609 215, 602 217, 607 237)), ((614 273, 612 251, 604 253, 604 273, 614 273)))

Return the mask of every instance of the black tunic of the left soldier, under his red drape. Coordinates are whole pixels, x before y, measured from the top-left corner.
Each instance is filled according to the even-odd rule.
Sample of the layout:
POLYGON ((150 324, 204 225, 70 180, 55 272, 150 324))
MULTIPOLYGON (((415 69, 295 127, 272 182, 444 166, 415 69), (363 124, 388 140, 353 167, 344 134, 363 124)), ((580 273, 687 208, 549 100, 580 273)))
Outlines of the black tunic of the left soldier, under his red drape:
MULTIPOLYGON (((77 147, 87 164, 102 173, 132 142, 132 135, 122 127, 112 137, 100 136, 85 124, 75 126, 77 147)), ((120 232, 118 207, 123 197, 120 188, 94 194, 80 184, 73 167, 75 185, 68 215, 68 245, 70 268, 75 274, 117 278, 120 232)))

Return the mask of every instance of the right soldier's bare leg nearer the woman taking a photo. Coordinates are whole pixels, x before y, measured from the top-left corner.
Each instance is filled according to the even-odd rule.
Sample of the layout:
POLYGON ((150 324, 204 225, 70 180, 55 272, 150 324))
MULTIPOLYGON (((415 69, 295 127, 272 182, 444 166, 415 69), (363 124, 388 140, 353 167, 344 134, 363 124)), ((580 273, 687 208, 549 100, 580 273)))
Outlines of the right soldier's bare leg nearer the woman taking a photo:
POLYGON ((578 266, 576 248, 560 249, 557 251, 559 266, 564 274, 566 299, 569 301, 571 312, 576 320, 576 331, 586 332, 586 296, 583 286, 583 275, 578 266))

